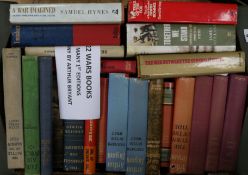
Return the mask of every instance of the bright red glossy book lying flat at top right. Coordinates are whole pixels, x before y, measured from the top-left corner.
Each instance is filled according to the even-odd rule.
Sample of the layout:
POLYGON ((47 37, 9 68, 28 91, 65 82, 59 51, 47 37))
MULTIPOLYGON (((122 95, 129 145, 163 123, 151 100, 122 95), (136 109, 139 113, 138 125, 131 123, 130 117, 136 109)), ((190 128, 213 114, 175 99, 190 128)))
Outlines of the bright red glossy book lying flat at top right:
POLYGON ((237 24, 237 5, 131 0, 128 22, 237 24))

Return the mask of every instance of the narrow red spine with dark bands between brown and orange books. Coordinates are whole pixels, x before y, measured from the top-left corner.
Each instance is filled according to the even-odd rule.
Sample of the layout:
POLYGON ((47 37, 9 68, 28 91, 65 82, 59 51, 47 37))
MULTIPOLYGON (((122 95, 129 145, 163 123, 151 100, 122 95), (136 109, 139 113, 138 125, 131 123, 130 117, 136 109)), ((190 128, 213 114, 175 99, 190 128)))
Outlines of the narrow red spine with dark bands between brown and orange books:
POLYGON ((171 135, 174 106, 174 82, 164 82, 163 123, 161 137, 161 167, 168 167, 171 151, 171 135))

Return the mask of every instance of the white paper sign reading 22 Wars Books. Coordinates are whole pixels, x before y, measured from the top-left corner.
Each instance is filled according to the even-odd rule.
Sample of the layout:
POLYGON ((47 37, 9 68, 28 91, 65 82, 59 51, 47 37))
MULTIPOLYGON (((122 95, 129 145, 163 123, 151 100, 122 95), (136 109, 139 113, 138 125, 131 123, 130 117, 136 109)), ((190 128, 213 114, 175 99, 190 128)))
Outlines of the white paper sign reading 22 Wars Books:
POLYGON ((60 118, 100 118, 100 47, 55 47, 60 118))

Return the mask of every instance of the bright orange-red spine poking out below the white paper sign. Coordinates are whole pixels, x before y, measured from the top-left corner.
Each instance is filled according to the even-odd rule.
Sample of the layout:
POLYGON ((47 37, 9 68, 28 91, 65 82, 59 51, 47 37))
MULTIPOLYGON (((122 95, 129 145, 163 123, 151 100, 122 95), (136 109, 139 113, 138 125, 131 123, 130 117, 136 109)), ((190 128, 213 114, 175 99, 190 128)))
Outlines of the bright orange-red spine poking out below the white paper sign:
POLYGON ((96 131, 98 120, 85 120, 84 174, 96 173, 96 131))

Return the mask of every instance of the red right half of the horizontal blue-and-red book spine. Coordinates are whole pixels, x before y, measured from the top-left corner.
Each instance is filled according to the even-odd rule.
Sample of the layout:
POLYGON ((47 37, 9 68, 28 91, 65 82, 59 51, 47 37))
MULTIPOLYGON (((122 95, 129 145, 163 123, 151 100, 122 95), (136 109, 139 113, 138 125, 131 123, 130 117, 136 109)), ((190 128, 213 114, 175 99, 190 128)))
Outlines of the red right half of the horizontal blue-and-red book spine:
POLYGON ((73 45, 120 45, 120 24, 75 24, 73 45))

